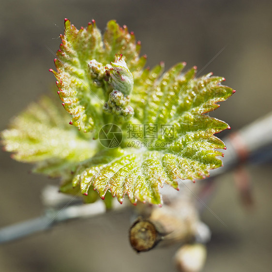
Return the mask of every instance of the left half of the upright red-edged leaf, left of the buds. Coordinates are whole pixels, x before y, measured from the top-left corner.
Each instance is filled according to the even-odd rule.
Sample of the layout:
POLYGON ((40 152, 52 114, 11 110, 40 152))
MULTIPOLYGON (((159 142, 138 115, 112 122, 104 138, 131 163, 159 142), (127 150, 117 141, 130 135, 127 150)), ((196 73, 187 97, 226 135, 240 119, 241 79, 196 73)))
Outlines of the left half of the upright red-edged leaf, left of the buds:
POLYGON ((102 37, 95 22, 80 30, 69 20, 64 25, 64 35, 60 35, 62 44, 55 59, 57 72, 50 71, 58 79, 62 105, 73 117, 70 123, 88 132, 101 126, 103 93, 91 81, 88 63, 100 60, 104 50, 102 37))

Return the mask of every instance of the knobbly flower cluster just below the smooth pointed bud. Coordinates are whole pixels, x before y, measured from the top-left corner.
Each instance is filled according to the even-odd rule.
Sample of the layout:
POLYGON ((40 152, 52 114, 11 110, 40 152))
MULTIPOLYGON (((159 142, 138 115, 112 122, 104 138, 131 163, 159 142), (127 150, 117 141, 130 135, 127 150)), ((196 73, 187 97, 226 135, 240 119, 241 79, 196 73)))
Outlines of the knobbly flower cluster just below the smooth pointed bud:
POLYGON ((113 90, 109 94, 108 102, 105 103, 103 109, 106 113, 115 114, 124 120, 128 120, 134 115, 134 109, 132 106, 128 106, 128 103, 128 97, 124 97, 121 91, 113 90))

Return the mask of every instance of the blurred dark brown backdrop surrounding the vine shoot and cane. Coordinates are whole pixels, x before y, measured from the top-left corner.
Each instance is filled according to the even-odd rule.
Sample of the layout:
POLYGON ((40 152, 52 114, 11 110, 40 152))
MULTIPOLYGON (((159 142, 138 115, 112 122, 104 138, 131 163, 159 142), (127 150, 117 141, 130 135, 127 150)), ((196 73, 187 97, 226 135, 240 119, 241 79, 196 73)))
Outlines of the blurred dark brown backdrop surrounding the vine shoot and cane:
MULTIPOLYGON (((126 24, 142 42, 148 65, 179 61, 226 77, 236 94, 221 103, 216 116, 232 130, 272 109, 272 2, 268 0, 28 0, 0 1, 0 130, 30 101, 54 87, 54 55, 60 45, 63 20, 77 28, 94 18, 103 31, 106 22, 126 24), (50 48, 50 50, 48 48, 50 48)), ((227 135, 229 131, 221 135, 227 135)), ((260 139, 261 140, 261 139, 260 139)), ((29 165, 0 152, 0 227, 43 213, 40 192, 56 183, 30 175, 29 165)), ((248 166, 255 207, 242 208, 233 174, 217 180, 217 192, 203 221, 212 229, 204 272, 268 272, 272 260, 271 164, 248 166)), ((130 248, 128 213, 105 215, 55 227, 24 240, 0 246, 2 272, 138 272, 175 271, 177 245, 137 255, 130 248)))

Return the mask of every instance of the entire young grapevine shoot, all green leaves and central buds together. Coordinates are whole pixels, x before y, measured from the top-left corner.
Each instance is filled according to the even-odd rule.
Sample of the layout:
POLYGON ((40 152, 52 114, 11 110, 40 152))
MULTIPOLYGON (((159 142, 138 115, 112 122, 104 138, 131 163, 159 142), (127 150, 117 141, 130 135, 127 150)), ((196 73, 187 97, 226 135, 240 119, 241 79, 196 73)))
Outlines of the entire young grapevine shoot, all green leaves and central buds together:
POLYGON ((144 69, 146 56, 139 57, 134 33, 113 20, 104 37, 94 21, 77 30, 65 19, 64 26, 57 71, 50 71, 72 115, 70 124, 82 133, 44 99, 2 133, 15 159, 60 175, 60 191, 82 194, 86 202, 95 201, 96 190, 102 198, 109 191, 120 202, 128 196, 133 204, 162 204, 165 183, 178 189, 180 180, 203 179, 222 165, 217 149, 225 145, 214 134, 229 127, 208 113, 234 92, 221 84, 223 77, 196 78, 196 67, 183 72, 185 62, 165 73, 163 63, 144 69), (121 128, 123 140, 116 148, 97 139, 107 124, 121 128))

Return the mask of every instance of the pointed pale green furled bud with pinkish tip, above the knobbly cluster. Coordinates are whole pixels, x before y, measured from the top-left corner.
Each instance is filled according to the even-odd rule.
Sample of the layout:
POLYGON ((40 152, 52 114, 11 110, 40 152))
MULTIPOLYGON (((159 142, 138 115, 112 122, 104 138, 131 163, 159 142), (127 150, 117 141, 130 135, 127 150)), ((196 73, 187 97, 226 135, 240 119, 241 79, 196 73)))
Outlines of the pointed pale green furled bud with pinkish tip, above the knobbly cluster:
POLYGON ((114 90, 121 91, 124 96, 131 93, 134 83, 133 76, 122 59, 122 55, 116 55, 114 62, 106 65, 106 74, 114 90))

